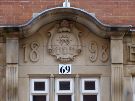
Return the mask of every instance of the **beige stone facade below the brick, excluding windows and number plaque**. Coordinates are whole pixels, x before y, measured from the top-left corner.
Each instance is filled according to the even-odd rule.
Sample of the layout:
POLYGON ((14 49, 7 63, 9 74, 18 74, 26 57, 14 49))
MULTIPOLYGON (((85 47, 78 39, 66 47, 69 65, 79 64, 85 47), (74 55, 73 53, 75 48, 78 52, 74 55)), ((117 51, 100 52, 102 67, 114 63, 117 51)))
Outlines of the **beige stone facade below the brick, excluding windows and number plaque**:
MULTIPOLYGON (((98 78, 97 101, 133 101, 135 37, 131 26, 108 26, 78 8, 53 8, 21 26, 0 28, 0 101, 32 101, 30 79, 98 78), (71 74, 59 74, 71 64, 71 74)), ((96 81, 96 80, 95 80, 96 81)), ((82 101, 74 92, 74 101, 82 101)))

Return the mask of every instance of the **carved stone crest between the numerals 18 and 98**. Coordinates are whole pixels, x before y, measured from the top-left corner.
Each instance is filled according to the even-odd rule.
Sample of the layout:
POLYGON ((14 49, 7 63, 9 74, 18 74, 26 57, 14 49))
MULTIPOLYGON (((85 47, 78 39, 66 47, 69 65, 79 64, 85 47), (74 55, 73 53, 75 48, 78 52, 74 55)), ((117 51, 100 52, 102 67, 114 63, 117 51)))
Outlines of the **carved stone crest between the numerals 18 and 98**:
POLYGON ((48 51, 60 62, 73 61, 81 52, 80 31, 69 21, 62 20, 49 31, 48 51))

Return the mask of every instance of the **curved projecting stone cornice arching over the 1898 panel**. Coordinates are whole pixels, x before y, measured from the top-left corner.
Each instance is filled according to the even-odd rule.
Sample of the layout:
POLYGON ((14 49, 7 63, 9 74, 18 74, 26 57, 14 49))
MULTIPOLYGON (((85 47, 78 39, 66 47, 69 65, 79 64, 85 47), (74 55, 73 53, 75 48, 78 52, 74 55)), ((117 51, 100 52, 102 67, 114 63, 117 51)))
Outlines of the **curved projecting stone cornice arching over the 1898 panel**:
POLYGON ((127 31, 131 27, 130 25, 110 26, 110 25, 103 24, 91 13, 88 13, 82 9, 74 8, 74 7, 70 7, 70 8, 56 7, 56 8, 45 10, 35 18, 31 19, 26 24, 20 25, 18 27, 22 31, 22 37, 28 37, 31 36, 36 31, 38 31, 44 25, 62 19, 67 19, 80 23, 85 27, 87 27, 94 34, 102 38, 110 37, 111 35, 108 32, 127 31))

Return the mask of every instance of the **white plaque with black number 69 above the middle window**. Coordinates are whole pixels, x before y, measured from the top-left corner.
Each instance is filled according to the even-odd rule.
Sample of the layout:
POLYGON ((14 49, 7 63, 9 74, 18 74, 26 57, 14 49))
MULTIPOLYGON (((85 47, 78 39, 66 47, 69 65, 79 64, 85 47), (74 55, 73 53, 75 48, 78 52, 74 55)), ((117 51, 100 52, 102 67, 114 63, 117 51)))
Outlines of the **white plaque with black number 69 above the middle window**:
POLYGON ((59 74, 71 74, 71 64, 59 64, 59 74))

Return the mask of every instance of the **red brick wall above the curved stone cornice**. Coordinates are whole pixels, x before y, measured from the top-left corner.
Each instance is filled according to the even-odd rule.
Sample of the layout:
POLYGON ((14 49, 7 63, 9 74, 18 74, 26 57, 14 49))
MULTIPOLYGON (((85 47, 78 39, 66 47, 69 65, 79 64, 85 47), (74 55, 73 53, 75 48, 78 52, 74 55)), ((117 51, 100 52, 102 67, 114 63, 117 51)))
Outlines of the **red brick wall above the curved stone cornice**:
MULTIPOLYGON (((0 25, 23 24, 32 13, 61 7, 64 0, 0 0, 0 25)), ((135 26, 135 0, 69 0, 72 7, 95 13, 103 23, 135 26)))

